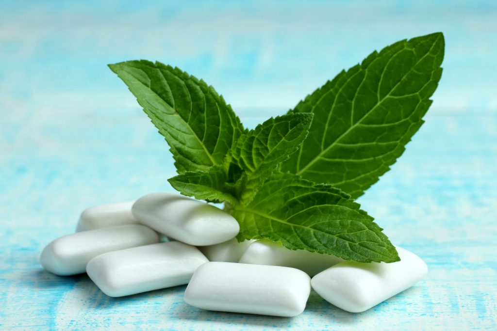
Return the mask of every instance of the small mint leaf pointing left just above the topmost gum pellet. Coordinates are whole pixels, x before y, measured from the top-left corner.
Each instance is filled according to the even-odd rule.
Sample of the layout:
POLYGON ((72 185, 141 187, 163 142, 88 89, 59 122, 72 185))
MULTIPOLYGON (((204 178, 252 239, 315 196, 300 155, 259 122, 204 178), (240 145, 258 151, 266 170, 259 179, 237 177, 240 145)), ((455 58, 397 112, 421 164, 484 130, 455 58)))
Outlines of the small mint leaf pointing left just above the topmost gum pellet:
POLYGON ((222 166, 212 166, 207 171, 187 171, 167 180, 182 195, 211 202, 228 201, 236 204, 235 189, 227 181, 222 166))

